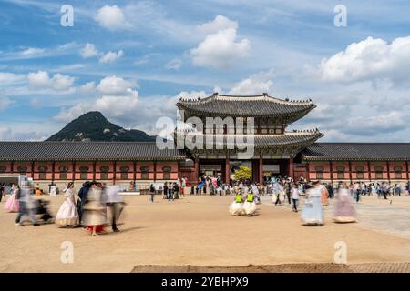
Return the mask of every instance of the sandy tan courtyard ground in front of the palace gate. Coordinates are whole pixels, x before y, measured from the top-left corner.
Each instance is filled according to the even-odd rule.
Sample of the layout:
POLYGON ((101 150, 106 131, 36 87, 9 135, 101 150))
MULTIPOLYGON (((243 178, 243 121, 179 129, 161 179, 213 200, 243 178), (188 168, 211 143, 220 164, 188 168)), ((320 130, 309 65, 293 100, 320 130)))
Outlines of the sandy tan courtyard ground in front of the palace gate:
MULTIPOLYGON (((334 263, 341 244, 346 246, 347 265, 410 262, 407 196, 389 200, 364 196, 355 205, 359 219, 355 224, 333 223, 331 200, 325 206, 324 226, 302 226, 300 213, 292 212, 287 202, 272 206, 271 196, 262 198, 258 216, 251 217, 229 216, 233 196, 185 196, 170 202, 156 196, 154 204, 148 196, 126 196, 121 232, 112 233, 107 227, 107 234, 98 237, 80 227, 14 226, 16 214, 3 209, 6 198, 0 204, 0 272, 334 263), (72 263, 64 259, 67 242, 73 246, 72 263)), ((42 198, 50 200, 56 215, 63 196, 42 198)))

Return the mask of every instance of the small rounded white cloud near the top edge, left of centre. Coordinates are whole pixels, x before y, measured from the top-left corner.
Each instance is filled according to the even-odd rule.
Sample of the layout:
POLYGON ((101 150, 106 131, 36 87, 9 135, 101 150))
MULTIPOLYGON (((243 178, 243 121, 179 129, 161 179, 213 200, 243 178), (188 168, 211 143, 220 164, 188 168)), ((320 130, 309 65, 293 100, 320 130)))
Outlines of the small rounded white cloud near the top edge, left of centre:
POLYGON ((105 5, 98 9, 95 17, 97 23, 108 30, 119 30, 128 28, 130 25, 126 22, 125 16, 117 5, 105 5))

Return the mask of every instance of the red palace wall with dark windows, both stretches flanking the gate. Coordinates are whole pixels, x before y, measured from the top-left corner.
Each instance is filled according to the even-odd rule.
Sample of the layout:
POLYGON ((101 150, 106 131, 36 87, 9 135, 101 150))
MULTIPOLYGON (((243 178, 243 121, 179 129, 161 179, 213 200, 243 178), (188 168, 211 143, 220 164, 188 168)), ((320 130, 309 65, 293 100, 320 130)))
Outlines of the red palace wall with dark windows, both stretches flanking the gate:
MULTIPOLYGON (((405 184, 410 177, 408 162, 377 161, 306 161, 293 164, 293 177, 321 179, 324 182, 386 181, 405 184)), ((108 184, 129 185, 136 181, 145 188, 149 183, 175 181, 180 177, 195 181, 194 168, 179 168, 178 161, 121 161, 121 162, 0 162, 0 175, 24 174, 32 177, 36 185, 47 188, 52 181, 57 186, 75 181, 97 180, 108 184)), ((285 173, 287 175, 287 173, 285 173)))

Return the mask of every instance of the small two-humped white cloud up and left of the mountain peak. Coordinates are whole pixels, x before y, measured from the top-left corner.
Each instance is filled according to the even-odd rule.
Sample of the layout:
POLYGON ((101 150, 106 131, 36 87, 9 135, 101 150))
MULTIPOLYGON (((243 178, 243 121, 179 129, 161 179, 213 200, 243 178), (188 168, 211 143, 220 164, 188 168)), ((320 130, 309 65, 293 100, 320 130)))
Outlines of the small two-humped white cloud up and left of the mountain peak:
POLYGON ((27 79, 28 85, 33 89, 54 89, 56 91, 67 91, 74 83, 73 77, 57 73, 50 78, 46 71, 29 73, 27 79))

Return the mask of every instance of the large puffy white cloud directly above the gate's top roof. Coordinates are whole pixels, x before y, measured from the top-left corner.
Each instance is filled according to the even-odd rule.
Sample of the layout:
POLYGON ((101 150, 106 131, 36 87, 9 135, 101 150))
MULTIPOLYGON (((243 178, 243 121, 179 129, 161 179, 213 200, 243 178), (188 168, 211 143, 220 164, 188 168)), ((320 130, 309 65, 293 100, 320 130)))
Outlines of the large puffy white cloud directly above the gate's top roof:
POLYGON ((248 39, 236 39, 238 25, 228 18, 218 15, 213 22, 201 26, 203 30, 217 30, 207 35, 203 42, 190 50, 194 65, 214 68, 229 68, 238 59, 250 55, 248 39))

